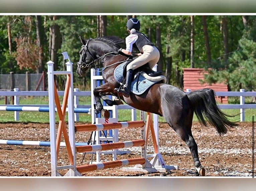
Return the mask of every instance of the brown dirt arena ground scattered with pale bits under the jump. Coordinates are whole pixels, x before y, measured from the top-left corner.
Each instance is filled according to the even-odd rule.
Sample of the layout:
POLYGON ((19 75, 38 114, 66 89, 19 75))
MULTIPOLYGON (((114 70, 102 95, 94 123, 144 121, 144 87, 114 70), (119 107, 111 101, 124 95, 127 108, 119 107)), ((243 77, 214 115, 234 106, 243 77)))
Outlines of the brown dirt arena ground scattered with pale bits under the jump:
MULTIPOLYGON (((81 123, 77 123, 81 124, 81 123)), ((193 123, 193 135, 198 144, 206 176, 252 176, 252 123, 240 125, 220 137, 213 127, 193 123)), ((76 133, 77 142, 87 142, 91 133, 76 133)), ((49 124, 0 123, 0 138, 7 140, 49 141, 49 124)), ((62 136, 63 137, 63 136, 62 136)), ((140 130, 119 130, 119 140, 140 138, 140 130)), ((83 176, 194 176, 194 163, 190 151, 177 134, 166 124, 159 123, 160 153, 166 165, 177 165, 178 170, 167 172, 130 172, 121 167, 83 173, 83 176)), ((153 153, 152 141, 148 141, 148 154, 153 153)), ((120 149, 128 151, 128 149, 120 149)), ((117 155, 117 159, 140 157, 140 148, 130 148, 130 153, 117 155)), ((51 176, 50 147, 0 145, 0 176, 51 176)), ((102 161, 112 160, 112 155, 102 155, 102 161)), ((77 166, 95 161, 95 155, 76 154, 77 166)), ((150 159, 149 159, 150 160, 150 159)), ((58 165, 68 165, 65 147, 60 148, 58 165)), ((130 167, 134 167, 130 166, 130 167)), ((60 171, 64 175, 67 171, 60 171)), ((255 174, 255 171, 254 171, 255 174)))

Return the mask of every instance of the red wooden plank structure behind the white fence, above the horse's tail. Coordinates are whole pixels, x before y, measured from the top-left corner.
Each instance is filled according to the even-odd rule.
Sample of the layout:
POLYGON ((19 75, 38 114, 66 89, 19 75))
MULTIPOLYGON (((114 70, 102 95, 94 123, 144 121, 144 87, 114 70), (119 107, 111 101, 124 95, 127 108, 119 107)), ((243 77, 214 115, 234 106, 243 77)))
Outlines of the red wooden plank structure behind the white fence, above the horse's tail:
MULTIPOLYGON (((202 88, 211 88, 215 92, 227 92, 228 86, 225 83, 215 83, 209 85, 207 83, 201 83, 200 80, 204 80, 204 75, 208 72, 200 68, 183 68, 183 86, 184 91, 191 89, 191 91, 199 90, 202 88)), ((216 100, 220 103, 228 103, 228 96, 217 96, 216 100)))

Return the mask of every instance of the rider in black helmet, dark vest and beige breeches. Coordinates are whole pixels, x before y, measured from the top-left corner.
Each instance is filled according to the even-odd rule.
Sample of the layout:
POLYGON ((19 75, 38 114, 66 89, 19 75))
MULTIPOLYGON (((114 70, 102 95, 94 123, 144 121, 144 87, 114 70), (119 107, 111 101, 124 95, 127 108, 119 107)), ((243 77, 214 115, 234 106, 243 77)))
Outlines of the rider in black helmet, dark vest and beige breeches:
MULTIPOLYGON (((122 93, 125 97, 130 96, 131 89, 131 78, 133 70, 139 68, 140 66, 148 63, 149 67, 153 69, 155 64, 160 58, 160 53, 158 49, 151 43, 143 33, 140 33, 140 21, 136 18, 131 18, 127 21, 126 24, 127 31, 129 36, 126 37, 126 49, 120 48, 119 53, 124 53, 126 55, 131 55, 132 47, 135 46, 140 53, 135 54, 138 56, 126 68, 126 83, 123 89, 120 89, 118 92, 122 93)), ((118 89, 116 89, 118 90, 118 89)))

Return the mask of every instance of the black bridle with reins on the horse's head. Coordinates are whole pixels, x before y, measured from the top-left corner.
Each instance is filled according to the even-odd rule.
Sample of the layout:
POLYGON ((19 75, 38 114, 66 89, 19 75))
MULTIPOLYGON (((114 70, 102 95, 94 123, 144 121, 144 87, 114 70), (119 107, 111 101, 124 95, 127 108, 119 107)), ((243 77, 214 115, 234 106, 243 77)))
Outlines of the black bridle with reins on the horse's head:
POLYGON ((77 65, 78 67, 82 70, 82 71, 87 71, 88 69, 92 68, 93 67, 93 64, 95 64, 95 69, 97 70, 97 63, 96 61, 109 55, 109 54, 113 54, 113 53, 117 53, 117 51, 114 51, 114 52, 110 52, 110 53, 107 53, 107 54, 104 54, 103 56, 97 58, 97 59, 94 59, 92 53, 88 50, 88 44, 89 44, 89 41, 91 41, 90 39, 86 42, 85 45, 82 45, 81 47, 85 47, 84 50, 83 50, 83 53, 82 53, 82 60, 81 62, 78 62, 77 65), (86 60, 86 51, 88 51, 89 55, 91 56, 91 58, 93 59, 92 62, 90 62, 89 64, 87 64, 86 62, 84 62, 86 60))

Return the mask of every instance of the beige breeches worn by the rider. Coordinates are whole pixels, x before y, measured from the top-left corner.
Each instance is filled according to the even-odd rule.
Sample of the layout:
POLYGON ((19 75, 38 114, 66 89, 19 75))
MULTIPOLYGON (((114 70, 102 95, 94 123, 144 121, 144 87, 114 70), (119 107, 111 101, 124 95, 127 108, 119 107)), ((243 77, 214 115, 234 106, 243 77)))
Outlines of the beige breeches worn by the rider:
POLYGON ((146 63, 153 69, 160 58, 158 49, 155 46, 145 45, 142 50, 143 54, 127 65, 127 71, 129 69, 135 70, 146 63))

